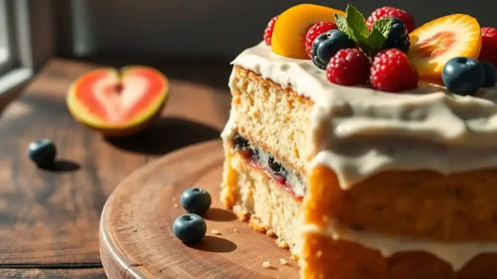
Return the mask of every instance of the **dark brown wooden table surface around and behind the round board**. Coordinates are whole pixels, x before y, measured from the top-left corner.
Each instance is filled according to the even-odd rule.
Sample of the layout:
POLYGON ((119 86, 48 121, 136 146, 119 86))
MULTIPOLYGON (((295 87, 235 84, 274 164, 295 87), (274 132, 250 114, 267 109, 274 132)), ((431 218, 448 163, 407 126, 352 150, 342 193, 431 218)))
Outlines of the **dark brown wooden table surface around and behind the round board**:
POLYGON ((65 103, 72 80, 95 67, 52 60, 2 113, 0 278, 106 278, 98 223, 114 187, 158 156, 218 138, 228 119, 227 88, 184 81, 188 74, 170 69, 170 97, 157 125, 128 139, 104 139, 76 123, 65 103), (65 171, 40 170, 28 160, 27 145, 41 138, 56 142, 65 171))

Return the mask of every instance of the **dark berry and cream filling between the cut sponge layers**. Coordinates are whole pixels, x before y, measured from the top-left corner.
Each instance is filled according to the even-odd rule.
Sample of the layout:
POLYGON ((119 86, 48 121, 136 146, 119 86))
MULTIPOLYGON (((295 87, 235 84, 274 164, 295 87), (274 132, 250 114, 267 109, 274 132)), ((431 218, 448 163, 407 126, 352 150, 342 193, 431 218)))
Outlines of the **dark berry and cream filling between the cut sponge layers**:
POLYGON ((301 176, 278 162, 271 154, 250 143, 240 134, 233 138, 233 149, 242 154, 255 168, 264 171, 294 198, 301 200, 305 194, 305 183, 301 176))

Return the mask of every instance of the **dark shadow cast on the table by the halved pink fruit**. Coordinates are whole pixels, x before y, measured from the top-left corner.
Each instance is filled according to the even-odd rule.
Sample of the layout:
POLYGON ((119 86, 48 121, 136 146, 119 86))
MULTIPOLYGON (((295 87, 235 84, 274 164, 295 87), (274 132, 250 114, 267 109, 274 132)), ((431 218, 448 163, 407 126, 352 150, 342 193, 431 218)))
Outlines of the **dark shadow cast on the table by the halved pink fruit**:
POLYGON ((147 130, 130 137, 106 137, 113 146, 148 155, 164 155, 194 143, 218 139, 220 131, 183 118, 166 117, 147 130))

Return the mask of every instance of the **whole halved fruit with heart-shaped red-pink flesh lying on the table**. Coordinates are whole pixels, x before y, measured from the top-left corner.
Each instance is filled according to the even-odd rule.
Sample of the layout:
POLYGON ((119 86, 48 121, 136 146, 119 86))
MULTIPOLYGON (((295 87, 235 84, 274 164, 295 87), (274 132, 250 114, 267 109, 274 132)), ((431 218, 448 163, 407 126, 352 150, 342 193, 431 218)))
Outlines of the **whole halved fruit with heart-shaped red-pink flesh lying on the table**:
POLYGON ((67 106, 73 117, 106 136, 140 132, 160 115, 168 80, 145 66, 91 70, 71 85, 67 106))

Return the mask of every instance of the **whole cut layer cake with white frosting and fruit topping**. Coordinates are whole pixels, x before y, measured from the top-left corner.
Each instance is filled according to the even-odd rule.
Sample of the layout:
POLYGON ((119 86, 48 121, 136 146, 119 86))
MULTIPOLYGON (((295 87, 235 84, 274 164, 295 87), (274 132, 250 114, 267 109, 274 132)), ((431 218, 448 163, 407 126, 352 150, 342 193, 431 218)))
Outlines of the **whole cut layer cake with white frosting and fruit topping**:
POLYGON ((413 29, 301 4, 232 63, 221 200, 302 279, 497 277, 497 44, 463 14, 413 29))

